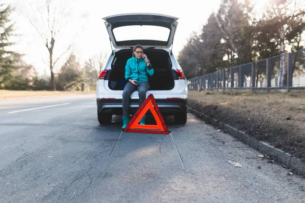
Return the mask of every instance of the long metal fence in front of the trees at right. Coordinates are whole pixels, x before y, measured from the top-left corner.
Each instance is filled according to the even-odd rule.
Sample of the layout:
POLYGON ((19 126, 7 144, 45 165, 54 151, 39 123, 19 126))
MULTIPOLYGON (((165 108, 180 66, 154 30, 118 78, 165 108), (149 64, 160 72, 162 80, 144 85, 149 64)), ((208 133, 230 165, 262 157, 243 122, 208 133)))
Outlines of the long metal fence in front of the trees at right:
POLYGON ((190 90, 305 91, 305 49, 188 80, 190 90))

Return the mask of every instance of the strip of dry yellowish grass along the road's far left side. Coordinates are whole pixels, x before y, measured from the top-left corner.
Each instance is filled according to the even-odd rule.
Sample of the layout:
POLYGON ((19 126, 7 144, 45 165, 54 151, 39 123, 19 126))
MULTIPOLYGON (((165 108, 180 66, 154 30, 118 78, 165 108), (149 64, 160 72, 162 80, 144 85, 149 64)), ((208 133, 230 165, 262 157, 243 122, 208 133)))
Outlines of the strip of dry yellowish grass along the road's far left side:
POLYGON ((18 97, 37 97, 52 95, 72 95, 72 94, 92 94, 95 91, 18 91, 18 90, 0 90, 0 100, 18 97))

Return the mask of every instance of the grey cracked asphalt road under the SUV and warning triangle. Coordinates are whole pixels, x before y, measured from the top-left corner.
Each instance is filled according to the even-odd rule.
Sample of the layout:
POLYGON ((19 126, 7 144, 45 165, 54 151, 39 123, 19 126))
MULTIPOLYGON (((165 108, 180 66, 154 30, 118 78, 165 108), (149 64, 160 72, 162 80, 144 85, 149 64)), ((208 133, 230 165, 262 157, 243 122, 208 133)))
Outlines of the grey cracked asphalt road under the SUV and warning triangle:
POLYGON ((96 111, 95 95, 0 100, 0 202, 305 202, 304 178, 192 114, 166 120, 185 171, 170 136, 125 132, 107 168, 121 117, 96 111))

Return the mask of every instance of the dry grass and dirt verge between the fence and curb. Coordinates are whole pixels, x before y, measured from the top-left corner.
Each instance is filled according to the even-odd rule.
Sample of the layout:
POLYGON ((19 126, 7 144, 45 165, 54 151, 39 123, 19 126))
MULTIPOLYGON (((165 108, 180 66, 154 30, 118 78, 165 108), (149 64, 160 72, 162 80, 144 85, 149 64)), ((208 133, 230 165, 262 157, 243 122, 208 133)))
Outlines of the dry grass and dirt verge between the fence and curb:
POLYGON ((189 91, 188 106, 305 161, 305 93, 189 91))

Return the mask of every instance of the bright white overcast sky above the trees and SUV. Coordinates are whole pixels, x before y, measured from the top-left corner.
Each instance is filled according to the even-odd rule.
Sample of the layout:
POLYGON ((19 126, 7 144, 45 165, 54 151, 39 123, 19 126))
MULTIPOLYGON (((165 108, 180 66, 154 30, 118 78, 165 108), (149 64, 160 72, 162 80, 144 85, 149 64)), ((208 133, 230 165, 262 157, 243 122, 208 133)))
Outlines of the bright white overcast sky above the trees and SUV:
MULTIPOLYGON (((62 6, 63 0, 53 0, 57 6, 62 6)), ((104 24, 103 17, 121 13, 158 13, 179 18, 178 26, 173 42, 173 53, 178 55, 179 51, 186 45, 187 40, 193 32, 200 33, 203 24, 206 23, 209 15, 217 11, 220 0, 212 1, 97 1, 97 0, 68 0, 70 15, 68 21, 60 32, 55 42, 54 58, 65 52, 69 44, 73 43, 73 51, 79 62, 83 64, 87 59, 99 53, 110 54, 111 46, 109 36, 104 24)), ((24 54, 23 60, 34 65, 39 75, 49 73, 48 51, 38 35, 35 28, 29 23, 26 16, 34 17, 36 7, 42 4, 43 0, 3 0, 4 3, 15 7, 11 15, 12 22, 15 22, 15 33, 18 37, 12 49, 24 54), (31 4, 33 4, 31 6, 31 4)), ((258 2, 264 2, 258 0, 258 2)), ((38 17, 36 17, 38 19, 38 17)), ((55 65, 55 72, 66 61, 69 53, 61 57, 55 65)))

